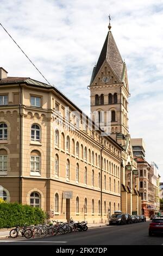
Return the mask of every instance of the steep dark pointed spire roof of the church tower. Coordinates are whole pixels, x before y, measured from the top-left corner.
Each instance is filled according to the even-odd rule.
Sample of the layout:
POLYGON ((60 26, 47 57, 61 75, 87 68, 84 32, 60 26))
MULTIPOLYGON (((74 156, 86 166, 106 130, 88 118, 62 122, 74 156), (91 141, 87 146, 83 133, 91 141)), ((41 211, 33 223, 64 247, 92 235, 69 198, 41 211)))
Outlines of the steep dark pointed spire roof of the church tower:
POLYGON ((95 79, 98 71, 101 69, 105 59, 108 61, 112 70, 115 72, 118 80, 121 81, 124 63, 111 31, 109 31, 106 35, 102 51, 98 58, 96 69, 93 69, 92 72, 91 83, 95 79))

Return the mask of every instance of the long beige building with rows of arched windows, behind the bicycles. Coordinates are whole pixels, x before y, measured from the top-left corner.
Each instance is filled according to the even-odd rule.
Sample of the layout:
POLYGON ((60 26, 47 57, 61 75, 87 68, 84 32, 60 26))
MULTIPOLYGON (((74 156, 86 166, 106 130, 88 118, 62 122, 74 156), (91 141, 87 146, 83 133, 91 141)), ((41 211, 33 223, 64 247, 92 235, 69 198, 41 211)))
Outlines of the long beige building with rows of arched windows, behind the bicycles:
POLYGON ((90 124, 57 88, 0 68, 0 197, 61 221, 108 221, 121 210, 123 148, 90 124))

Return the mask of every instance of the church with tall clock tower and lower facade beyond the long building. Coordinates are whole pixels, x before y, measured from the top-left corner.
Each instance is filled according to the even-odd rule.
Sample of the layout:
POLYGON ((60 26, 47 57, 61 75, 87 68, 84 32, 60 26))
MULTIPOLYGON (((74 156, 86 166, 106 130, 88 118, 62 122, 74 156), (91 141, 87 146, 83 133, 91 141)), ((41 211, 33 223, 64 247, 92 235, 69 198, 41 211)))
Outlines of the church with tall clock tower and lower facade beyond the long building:
POLYGON ((139 177, 128 131, 129 86, 126 63, 123 62, 110 31, 93 68, 90 82, 92 119, 122 147, 122 211, 141 213, 139 177), (95 113, 98 113, 95 115, 95 113))

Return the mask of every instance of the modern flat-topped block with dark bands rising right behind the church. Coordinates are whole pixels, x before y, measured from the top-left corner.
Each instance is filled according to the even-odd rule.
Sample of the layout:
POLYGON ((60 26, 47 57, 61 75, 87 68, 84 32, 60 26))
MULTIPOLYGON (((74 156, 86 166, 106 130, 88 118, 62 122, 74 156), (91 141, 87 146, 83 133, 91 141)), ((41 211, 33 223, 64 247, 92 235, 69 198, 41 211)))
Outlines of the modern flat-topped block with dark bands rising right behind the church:
POLYGON ((145 160, 146 145, 143 139, 131 139, 131 144, 133 147, 134 156, 140 157, 145 160))

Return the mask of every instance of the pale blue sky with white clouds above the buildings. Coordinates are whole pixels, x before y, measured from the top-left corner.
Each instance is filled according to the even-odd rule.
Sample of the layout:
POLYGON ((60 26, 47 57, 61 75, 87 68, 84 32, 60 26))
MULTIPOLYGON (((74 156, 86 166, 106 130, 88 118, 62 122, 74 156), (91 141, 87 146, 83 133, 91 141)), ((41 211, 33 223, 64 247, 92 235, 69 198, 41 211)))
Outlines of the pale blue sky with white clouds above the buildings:
MULTIPOLYGON (((129 80, 129 132, 163 181, 163 0, 0 0, 0 22, 47 80, 90 115, 92 69, 111 31, 129 80)), ((43 80, 0 27, 0 66, 43 80)))

